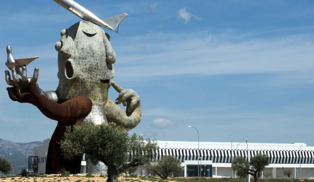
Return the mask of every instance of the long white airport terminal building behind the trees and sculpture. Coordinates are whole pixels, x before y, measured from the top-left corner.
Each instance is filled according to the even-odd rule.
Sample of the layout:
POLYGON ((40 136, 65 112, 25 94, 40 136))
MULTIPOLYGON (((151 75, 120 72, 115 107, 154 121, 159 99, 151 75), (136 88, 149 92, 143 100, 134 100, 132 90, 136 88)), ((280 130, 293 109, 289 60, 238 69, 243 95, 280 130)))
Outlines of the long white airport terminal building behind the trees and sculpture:
MULTIPOLYGON (((181 160, 184 172, 180 176, 197 177, 201 169, 202 177, 236 177, 231 170, 231 158, 237 156, 253 157, 258 153, 267 154, 270 164, 262 172, 263 178, 284 178, 284 169, 290 169, 292 178, 314 177, 314 147, 305 143, 231 143, 230 142, 184 142, 157 141, 159 149, 155 152, 153 162, 164 155, 171 155, 181 160), (198 147, 199 146, 199 147, 198 147), (199 150, 198 150, 199 148, 199 150), (198 168, 199 164, 199 168, 198 168)), ((38 173, 45 173, 46 154, 49 139, 44 140, 42 146, 34 148, 34 156, 41 163, 38 173)), ((141 166, 136 174, 147 174, 141 166)), ((82 173, 86 171, 86 162, 82 161, 82 173), (85 165, 85 166, 84 166, 85 165), (85 168, 84 168, 85 167, 85 168)), ((144 167, 145 169, 145 167, 144 167)))

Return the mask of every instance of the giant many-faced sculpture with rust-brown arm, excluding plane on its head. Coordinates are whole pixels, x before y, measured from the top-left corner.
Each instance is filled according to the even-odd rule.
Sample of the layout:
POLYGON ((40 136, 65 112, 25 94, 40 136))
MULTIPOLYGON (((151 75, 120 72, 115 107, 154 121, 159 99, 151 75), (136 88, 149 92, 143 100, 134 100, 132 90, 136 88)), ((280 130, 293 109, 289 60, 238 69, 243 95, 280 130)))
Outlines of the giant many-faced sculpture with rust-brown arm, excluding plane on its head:
MULTIPOLYGON (((27 76, 26 65, 36 57, 15 60, 11 48, 7 46, 6 65, 12 77, 8 70, 5 77, 8 85, 13 86, 7 88, 9 97, 13 101, 31 103, 46 117, 58 121, 49 143, 46 174, 62 173, 64 170, 80 172, 81 157, 67 161, 58 145, 66 126, 115 122, 130 129, 141 121, 138 94, 131 89, 122 89, 111 80, 115 75, 113 64, 116 54, 109 40, 109 34, 86 20, 63 29, 60 41, 55 44, 59 79, 56 91, 40 88, 37 84, 38 68, 35 68, 33 77, 27 76), (110 86, 119 92, 116 101, 108 98, 110 86), (117 105, 120 103, 126 106, 126 111, 117 105)), ((101 165, 88 165, 89 173, 101 170, 101 165)))

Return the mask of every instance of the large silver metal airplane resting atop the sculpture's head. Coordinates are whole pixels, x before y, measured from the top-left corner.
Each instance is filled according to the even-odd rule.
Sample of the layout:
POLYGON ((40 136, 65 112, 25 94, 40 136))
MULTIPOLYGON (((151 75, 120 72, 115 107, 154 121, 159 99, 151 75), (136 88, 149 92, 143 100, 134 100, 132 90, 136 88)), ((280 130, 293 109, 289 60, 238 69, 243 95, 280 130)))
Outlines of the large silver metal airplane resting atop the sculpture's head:
MULTIPOLYGON (((63 8, 66 8, 70 12, 74 13, 83 20, 93 22, 101 27, 104 27, 109 30, 113 30, 118 33, 119 24, 127 17, 127 13, 118 14, 116 16, 105 18, 101 20, 94 13, 90 12, 88 9, 84 8, 82 5, 78 4, 73 0, 53 0, 56 3, 60 4, 63 8), (118 29, 116 27, 118 26, 118 29)), ((118 33, 119 34, 119 33, 118 33)))

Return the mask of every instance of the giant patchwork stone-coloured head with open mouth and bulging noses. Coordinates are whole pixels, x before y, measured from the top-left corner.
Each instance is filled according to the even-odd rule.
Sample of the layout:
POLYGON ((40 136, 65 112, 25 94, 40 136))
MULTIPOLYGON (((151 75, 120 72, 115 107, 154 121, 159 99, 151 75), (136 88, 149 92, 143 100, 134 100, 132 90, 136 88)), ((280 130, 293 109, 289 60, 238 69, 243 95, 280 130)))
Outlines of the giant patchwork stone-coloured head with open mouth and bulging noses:
POLYGON ((103 29, 89 21, 75 23, 61 31, 61 39, 55 45, 60 99, 81 95, 93 102, 106 101, 116 61, 109 39, 103 29))

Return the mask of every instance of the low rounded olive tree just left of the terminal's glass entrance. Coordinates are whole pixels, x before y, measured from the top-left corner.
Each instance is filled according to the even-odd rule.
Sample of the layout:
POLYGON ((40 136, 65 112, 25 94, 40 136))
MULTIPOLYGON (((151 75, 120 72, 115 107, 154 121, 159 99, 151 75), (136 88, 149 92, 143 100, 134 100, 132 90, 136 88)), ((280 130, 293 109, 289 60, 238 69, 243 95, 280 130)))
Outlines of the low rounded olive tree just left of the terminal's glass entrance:
POLYGON ((181 167, 181 161, 170 155, 163 156, 161 160, 158 160, 157 163, 152 163, 148 166, 148 173, 157 174, 161 179, 167 179, 169 175, 176 177, 184 169, 181 167))

